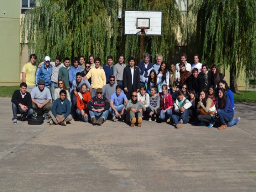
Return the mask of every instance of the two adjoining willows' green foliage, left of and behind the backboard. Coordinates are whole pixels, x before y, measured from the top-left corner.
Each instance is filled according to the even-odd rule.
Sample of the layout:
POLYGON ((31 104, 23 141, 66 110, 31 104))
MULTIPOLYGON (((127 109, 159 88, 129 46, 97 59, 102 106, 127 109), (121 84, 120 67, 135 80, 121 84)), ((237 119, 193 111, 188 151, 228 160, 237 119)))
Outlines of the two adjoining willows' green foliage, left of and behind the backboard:
MULTIPOLYGON (((22 48, 28 43, 29 53, 38 60, 45 55, 55 58, 90 54, 114 58, 120 53, 139 57, 139 36, 124 36, 124 10, 161 10, 162 36, 146 36, 144 52, 170 58, 177 44, 178 27, 183 32, 176 0, 39 0, 40 7, 26 13, 21 21, 22 48), (121 5, 118 4, 121 3, 121 5), (122 6, 122 19, 118 9, 122 6), (118 47, 118 50, 117 50, 118 47)), ((102 59, 104 62, 104 59, 102 59)), ((127 63, 127 62, 126 62, 127 63)))

